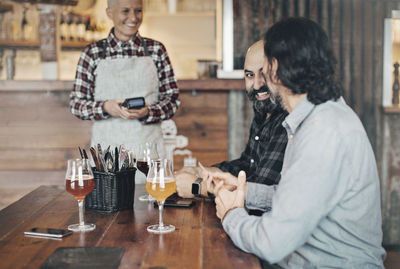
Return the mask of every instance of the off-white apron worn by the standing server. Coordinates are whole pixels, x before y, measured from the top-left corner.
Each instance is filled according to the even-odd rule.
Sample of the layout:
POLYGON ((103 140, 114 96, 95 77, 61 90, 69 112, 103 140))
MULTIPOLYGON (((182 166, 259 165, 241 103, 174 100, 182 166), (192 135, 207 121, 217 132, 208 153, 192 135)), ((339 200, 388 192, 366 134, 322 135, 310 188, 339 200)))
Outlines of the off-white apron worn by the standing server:
MULTIPOLYGON (((144 42, 143 42, 144 44, 144 42)), ((151 56, 131 56, 129 58, 105 59, 97 65, 95 100, 125 99, 144 97, 147 104, 157 101, 158 72, 151 56)), ((139 120, 109 118, 93 123, 91 145, 98 143, 107 148, 124 145, 134 150, 139 144, 161 141, 161 124, 144 125, 139 120)), ((142 173, 136 173, 136 183, 144 183, 142 173)))

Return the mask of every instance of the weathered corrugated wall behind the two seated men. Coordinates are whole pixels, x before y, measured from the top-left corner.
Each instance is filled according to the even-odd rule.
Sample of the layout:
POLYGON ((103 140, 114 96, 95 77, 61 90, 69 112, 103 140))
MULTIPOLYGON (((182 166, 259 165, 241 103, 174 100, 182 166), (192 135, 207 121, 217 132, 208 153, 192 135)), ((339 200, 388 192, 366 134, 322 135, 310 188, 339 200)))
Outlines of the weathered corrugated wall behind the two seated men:
POLYGON ((400 10, 400 0, 234 0, 235 67, 247 47, 274 22, 303 16, 326 30, 338 60, 337 76, 346 102, 361 118, 381 177, 385 245, 400 245, 399 112, 382 109, 383 23, 400 10))

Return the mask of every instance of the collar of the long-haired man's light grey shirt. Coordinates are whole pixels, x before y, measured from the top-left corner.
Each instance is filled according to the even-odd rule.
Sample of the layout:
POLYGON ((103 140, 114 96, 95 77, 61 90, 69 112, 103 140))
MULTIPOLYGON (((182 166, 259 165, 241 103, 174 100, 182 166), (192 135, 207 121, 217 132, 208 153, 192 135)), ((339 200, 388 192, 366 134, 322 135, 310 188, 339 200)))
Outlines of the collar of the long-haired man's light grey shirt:
POLYGON ((308 101, 307 96, 297 105, 282 123, 283 127, 289 130, 292 134, 296 133, 298 127, 314 110, 315 105, 308 101))

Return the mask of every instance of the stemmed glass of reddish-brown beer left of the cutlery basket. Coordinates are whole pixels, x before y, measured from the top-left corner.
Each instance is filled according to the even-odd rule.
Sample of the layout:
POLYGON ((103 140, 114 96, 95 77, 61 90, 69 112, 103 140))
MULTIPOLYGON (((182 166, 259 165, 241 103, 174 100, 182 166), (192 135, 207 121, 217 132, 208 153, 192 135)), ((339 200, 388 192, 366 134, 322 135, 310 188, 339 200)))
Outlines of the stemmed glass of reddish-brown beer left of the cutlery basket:
POLYGON ((65 188, 78 201, 79 223, 68 226, 68 230, 74 232, 92 231, 94 224, 84 222, 85 196, 94 189, 93 171, 88 159, 68 160, 67 173, 65 175, 65 188))

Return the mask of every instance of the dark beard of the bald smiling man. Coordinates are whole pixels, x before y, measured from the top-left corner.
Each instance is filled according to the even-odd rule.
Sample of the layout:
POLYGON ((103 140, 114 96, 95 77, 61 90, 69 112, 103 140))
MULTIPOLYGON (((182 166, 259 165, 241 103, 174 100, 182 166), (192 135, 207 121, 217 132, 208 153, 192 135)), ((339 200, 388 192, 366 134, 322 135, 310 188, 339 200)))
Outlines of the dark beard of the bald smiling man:
POLYGON ((250 101, 253 102, 254 116, 257 120, 264 120, 268 113, 271 113, 274 109, 280 106, 280 99, 278 95, 274 95, 267 85, 262 86, 260 89, 251 89, 247 93, 250 101), (258 93, 268 92, 270 96, 265 100, 257 100, 256 95, 258 93))

